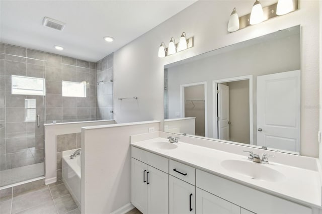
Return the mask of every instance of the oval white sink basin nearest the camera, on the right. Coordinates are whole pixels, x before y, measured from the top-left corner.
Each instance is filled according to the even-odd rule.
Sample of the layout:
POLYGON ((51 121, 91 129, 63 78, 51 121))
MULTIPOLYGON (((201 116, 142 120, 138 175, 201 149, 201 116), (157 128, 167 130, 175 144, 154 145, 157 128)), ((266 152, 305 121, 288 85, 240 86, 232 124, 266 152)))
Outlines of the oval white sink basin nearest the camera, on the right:
POLYGON ((279 182, 286 179, 285 175, 275 169, 269 168, 261 163, 247 160, 224 160, 221 161, 221 166, 228 171, 255 180, 279 182))

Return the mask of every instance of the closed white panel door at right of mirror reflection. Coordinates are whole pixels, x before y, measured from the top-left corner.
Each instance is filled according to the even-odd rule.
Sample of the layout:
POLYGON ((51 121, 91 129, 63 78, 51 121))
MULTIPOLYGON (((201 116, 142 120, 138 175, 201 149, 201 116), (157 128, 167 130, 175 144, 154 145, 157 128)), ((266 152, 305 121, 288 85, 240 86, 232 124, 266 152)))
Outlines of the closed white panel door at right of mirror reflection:
POLYGON ((257 145, 299 152, 300 70, 257 77, 257 145))

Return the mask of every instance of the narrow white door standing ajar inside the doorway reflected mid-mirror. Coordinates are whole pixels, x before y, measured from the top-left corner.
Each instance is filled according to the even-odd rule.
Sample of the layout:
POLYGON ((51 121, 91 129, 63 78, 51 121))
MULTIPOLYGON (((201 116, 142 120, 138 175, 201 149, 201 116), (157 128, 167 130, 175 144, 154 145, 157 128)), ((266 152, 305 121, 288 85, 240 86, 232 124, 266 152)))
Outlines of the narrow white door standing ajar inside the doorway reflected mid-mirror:
POLYGON ((229 141, 229 87, 218 83, 218 139, 229 141))

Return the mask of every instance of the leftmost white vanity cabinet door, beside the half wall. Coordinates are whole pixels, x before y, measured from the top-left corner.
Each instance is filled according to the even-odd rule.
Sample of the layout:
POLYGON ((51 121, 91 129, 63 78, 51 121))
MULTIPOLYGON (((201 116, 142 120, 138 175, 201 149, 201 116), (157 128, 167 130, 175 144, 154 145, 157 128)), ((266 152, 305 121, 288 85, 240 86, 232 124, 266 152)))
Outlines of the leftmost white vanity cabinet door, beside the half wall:
POLYGON ((131 202, 142 213, 147 211, 147 165, 132 158, 131 161, 131 202))

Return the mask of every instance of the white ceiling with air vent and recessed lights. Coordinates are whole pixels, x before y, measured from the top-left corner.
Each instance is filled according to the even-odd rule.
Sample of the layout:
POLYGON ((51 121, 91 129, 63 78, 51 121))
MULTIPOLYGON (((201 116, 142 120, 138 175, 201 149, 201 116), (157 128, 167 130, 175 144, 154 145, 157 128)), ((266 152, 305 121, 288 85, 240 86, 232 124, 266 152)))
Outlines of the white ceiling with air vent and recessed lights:
POLYGON ((196 1, 1 0, 0 41, 96 62, 196 1), (42 26, 44 17, 66 23, 65 29, 42 26), (104 36, 115 40, 107 43, 104 36))

